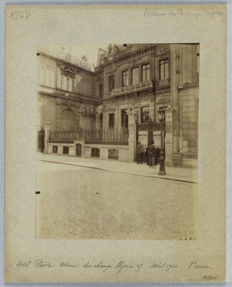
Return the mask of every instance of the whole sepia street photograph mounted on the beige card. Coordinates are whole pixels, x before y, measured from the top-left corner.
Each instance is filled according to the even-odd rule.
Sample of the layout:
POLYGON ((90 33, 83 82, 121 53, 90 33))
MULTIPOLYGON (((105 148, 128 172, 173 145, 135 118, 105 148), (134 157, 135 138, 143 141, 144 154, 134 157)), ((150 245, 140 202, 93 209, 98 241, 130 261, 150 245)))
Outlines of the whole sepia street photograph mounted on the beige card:
POLYGON ((36 238, 197 239, 199 43, 37 47, 36 238))

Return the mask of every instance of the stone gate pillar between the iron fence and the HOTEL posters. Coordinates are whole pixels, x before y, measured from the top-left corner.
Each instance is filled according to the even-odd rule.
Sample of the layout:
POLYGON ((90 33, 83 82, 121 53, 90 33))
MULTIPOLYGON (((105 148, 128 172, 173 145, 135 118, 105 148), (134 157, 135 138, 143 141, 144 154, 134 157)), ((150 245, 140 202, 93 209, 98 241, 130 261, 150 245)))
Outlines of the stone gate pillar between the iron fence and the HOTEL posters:
POLYGON ((129 120, 129 154, 128 154, 128 161, 134 162, 135 161, 135 153, 136 153, 136 113, 129 113, 128 120, 129 120))

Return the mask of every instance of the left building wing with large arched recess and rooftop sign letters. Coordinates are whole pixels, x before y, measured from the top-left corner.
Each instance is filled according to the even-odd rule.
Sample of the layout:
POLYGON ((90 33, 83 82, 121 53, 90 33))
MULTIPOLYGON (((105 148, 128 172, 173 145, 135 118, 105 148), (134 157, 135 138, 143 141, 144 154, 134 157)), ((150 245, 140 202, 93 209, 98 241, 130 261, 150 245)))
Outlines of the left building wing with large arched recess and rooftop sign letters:
POLYGON ((65 55, 57 57, 41 50, 37 53, 38 129, 46 121, 51 122, 51 130, 93 128, 94 73, 70 63, 65 55))

